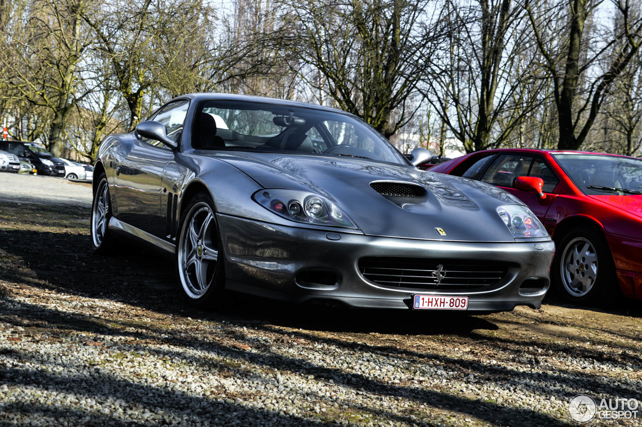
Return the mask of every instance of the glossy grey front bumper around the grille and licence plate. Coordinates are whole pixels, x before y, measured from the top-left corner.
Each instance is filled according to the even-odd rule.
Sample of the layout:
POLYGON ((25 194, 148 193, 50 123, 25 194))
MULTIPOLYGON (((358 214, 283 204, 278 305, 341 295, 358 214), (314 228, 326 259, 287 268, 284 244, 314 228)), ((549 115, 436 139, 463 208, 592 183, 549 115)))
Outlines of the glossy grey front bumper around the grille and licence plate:
MULTIPOLYGON (((361 308, 412 308, 412 298, 449 295, 469 298, 469 311, 539 308, 550 286, 552 241, 469 243, 365 236, 351 232, 285 227, 218 214, 225 254, 226 288, 270 299, 361 308), (377 284, 360 270, 360 260, 474 260, 507 265, 499 281, 471 288, 412 288, 377 284), (319 277, 319 279, 315 279, 319 277)), ((446 272, 446 275, 449 274, 446 272)))

